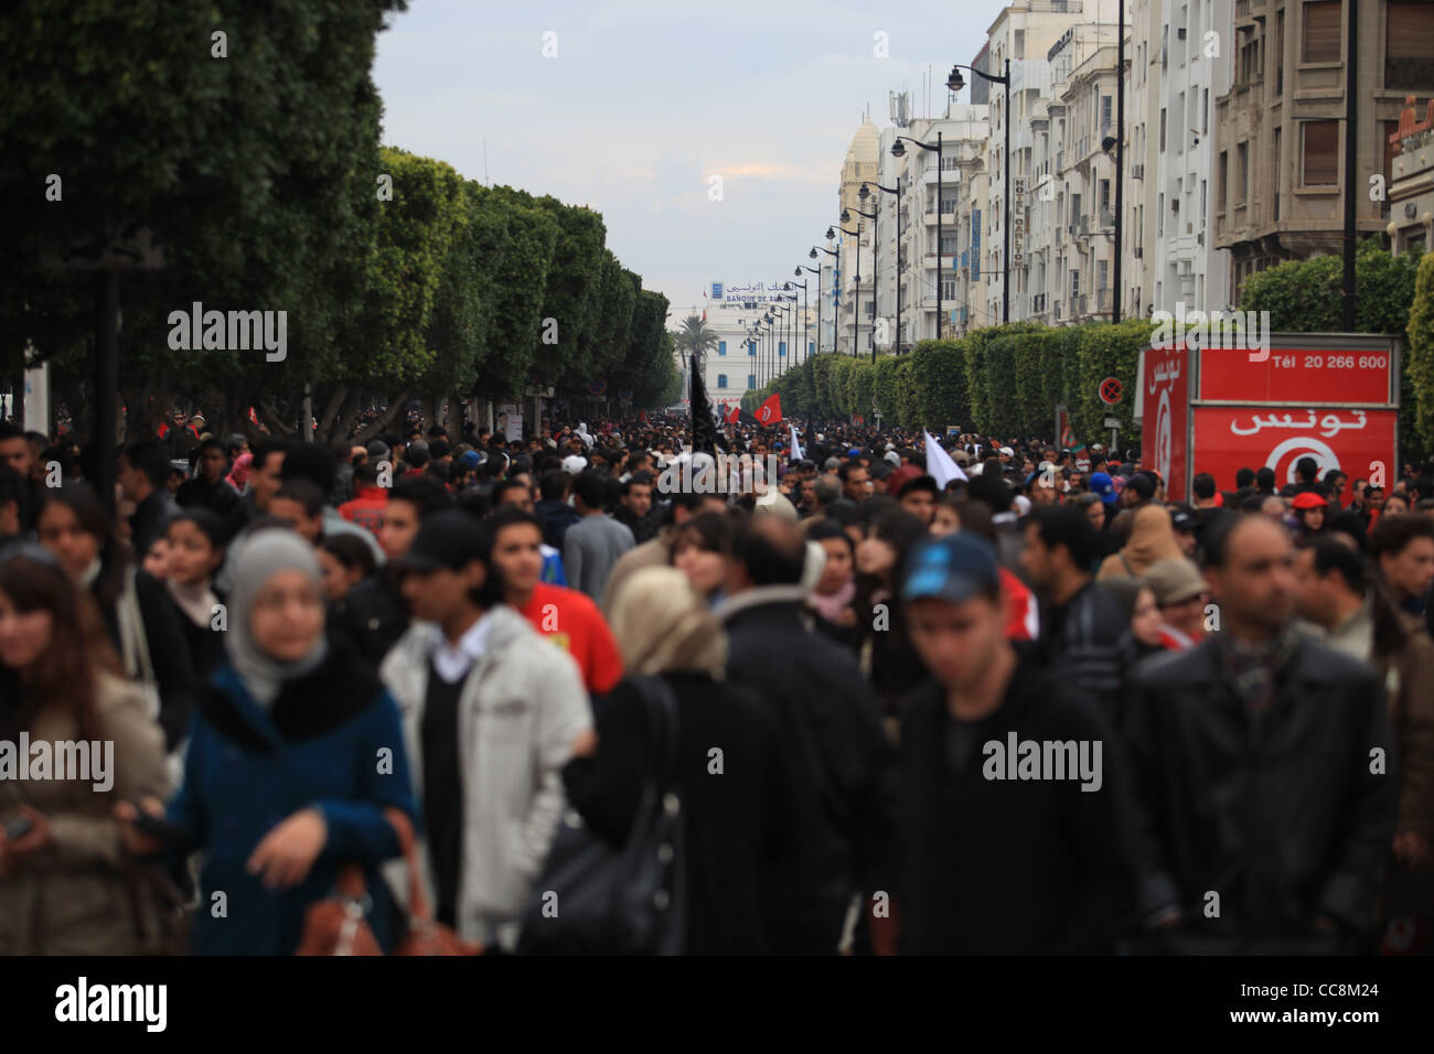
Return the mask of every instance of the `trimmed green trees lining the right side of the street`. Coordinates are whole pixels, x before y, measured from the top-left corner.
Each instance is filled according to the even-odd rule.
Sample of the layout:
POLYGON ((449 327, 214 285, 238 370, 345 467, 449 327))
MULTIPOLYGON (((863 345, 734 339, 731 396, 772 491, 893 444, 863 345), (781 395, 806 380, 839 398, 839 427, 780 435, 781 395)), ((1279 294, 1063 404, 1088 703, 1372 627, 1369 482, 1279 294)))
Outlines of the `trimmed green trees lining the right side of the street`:
MULTIPOLYGON (((1357 255, 1361 333, 1405 336, 1400 430, 1405 446, 1434 449, 1434 254, 1391 255, 1377 239, 1357 255)), ((1252 275, 1242 311, 1269 311, 1272 333, 1334 333, 1341 327, 1341 271, 1336 257, 1291 261, 1252 275)), ((1107 406, 1100 381, 1119 377, 1134 391, 1149 321, 1097 323, 1050 328, 1012 323, 975 330, 959 340, 919 341, 909 354, 875 363, 849 356, 816 356, 786 370, 766 387, 743 396, 756 409, 773 391, 783 412, 797 417, 869 419, 945 430, 949 424, 995 435, 1054 439, 1054 407, 1070 412, 1083 440, 1104 435, 1104 419, 1119 417, 1120 435, 1139 442, 1133 399, 1107 406)))

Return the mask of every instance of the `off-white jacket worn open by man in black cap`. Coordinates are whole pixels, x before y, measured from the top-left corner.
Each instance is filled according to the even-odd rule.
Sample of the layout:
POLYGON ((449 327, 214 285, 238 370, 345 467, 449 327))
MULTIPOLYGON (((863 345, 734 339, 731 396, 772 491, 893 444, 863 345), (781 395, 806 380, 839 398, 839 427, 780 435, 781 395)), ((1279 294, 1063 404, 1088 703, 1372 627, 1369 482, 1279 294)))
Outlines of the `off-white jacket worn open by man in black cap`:
MULTIPOLYGON (((459 697, 463 856, 456 921, 463 939, 511 951, 564 813, 562 766, 578 734, 592 727, 592 707, 578 665, 565 651, 509 607, 495 607, 490 618, 486 648, 459 697)), ((423 706, 439 632, 432 622, 416 622, 380 668, 399 704, 420 802, 423 706)), ((435 903, 423 839, 417 849, 429 903, 435 903)), ((390 863, 386 876, 406 899, 403 860, 390 863)))

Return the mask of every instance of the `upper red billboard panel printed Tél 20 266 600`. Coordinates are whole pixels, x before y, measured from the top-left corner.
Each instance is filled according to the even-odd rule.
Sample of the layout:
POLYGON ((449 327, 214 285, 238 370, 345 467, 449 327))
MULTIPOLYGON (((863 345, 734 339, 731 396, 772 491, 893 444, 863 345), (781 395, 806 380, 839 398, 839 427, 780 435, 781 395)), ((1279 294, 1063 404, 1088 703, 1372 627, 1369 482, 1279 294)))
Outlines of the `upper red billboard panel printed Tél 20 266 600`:
MULTIPOLYGON (((1314 343, 1314 341, 1311 341, 1314 343)), ((1200 351, 1200 402, 1390 403, 1394 356, 1387 348, 1278 347, 1250 360, 1243 348, 1200 351)))

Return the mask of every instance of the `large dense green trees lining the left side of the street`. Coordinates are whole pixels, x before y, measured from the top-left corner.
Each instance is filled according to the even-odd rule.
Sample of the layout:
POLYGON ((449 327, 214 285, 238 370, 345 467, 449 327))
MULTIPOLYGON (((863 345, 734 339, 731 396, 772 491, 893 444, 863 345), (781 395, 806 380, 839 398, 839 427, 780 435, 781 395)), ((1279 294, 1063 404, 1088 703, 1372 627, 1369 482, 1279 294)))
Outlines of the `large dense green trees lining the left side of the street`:
POLYGON ((92 419, 93 281, 46 257, 148 232, 162 270, 120 284, 130 435, 176 396, 217 430, 254 406, 293 432, 307 390, 323 440, 370 404, 389 406, 376 432, 414 397, 435 417, 529 383, 675 397, 667 298, 607 248, 598 212, 380 148, 374 37, 402 9, 22 0, 0 16, 0 374, 33 346, 92 419), (287 356, 175 350, 169 315, 194 303, 285 311, 287 356))

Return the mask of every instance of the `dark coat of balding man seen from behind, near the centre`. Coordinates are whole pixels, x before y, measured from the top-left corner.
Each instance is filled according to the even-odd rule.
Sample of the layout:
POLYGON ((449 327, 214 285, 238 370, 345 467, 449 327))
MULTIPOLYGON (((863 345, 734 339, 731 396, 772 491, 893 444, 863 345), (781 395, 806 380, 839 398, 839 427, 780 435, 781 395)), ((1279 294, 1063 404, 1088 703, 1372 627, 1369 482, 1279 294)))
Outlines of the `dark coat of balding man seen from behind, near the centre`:
POLYGON ((744 605, 726 619, 727 675, 782 726, 799 809, 802 845, 784 876, 786 929, 774 951, 830 954, 852 895, 892 888, 893 751, 856 661, 807 628, 800 602, 737 599, 744 605))

